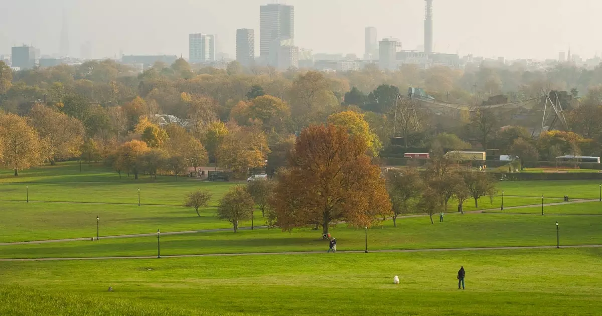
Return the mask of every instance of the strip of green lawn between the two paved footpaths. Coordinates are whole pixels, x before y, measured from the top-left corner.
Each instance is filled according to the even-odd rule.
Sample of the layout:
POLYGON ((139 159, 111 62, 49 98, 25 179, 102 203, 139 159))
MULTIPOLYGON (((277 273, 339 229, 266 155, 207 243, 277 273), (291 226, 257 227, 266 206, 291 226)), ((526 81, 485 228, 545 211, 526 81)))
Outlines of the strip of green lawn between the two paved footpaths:
MULTIPOLYGON (((503 246, 555 246, 556 221, 560 244, 602 244, 602 216, 465 214, 447 215, 435 225, 428 217, 391 220, 368 229, 368 249, 442 249, 503 246)), ((153 231, 150 231, 153 232, 153 231)), ((167 232, 161 229, 161 232, 167 232)), ((363 250, 364 229, 339 225, 330 233, 338 250, 363 250)), ((297 252, 328 249, 321 231, 282 232, 279 229, 161 235, 161 255, 202 253, 297 252)), ((102 239, 0 246, 0 258, 66 258, 157 255, 157 237, 102 239)))

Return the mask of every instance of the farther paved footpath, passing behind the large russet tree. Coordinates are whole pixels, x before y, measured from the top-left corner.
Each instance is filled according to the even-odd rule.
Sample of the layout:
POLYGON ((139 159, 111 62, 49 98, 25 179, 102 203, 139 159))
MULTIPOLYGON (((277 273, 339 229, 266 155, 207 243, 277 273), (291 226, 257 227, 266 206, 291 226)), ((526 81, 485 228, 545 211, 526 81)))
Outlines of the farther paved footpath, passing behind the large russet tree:
MULTIPOLYGON (((585 202, 595 202, 595 200, 572 200, 569 202, 555 202, 555 203, 545 203, 544 206, 554 206, 554 205, 566 205, 566 204, 575 204, 575 203, 585 203, 585 202)), ((532 208, 533 206, 540 206, 541 204, 532 204, 532 205, 521 205, 521 206, 508 206, 504 209, 521 209, 521 208, 532 208)), ((464 214, 474 214, 474 213, 487 213, 493 211, 500 211, 499 208, 490 208, 490 209, 479 209, 477 211, 465 211, 464 214)), ((449 212, 445 213, 446 215, 460 215, 459 212, 449 212)), ((518 214, 518 215, 526 215, 526 213, 498 213, 498 214, 518 214)), ((583 214, 554 214, 554 215, 583 215, 583 214)), ((595 214, 592 214, 595 215, 595 214)), ((413 215, 400 215, 397 217, 400 218, 412 218, 412 217, 425 217, 427 214, 413 214, 413 215)), ((342 222, 341 222, 342 223, 342 222)), ((255 226, 255 229, 265 229, 267 226, 255 226)), ((250 227, 241 227, 239 230, 248 231, 250 227)), ((161 235, 185 235, 185 234, 198 234, 198 233, 207 233, 207 232, 226 232, 231 231, 232 228, 216 228, 216 229, 199 229, 196 231, 179 231, 179 232, 161 232, 161 235)), ((156 236, 156 233, 149 234, 130 234, 130 235, 114 235, 114 236, 101 236, 101 239, 115 239, 115 238, 136 238, 136 237, 152 237, 156 236)), ((11 246, 11 245, 23 245, 23 244, 45 244, 45 243, 64 243, 66 241, 90 241, 90 237, 84 238, 67 238, 67 239, 55 239, 55 240, 34 240, 34 241, 16 241, 13 243, 0 243, 0 246, 11 246)))

